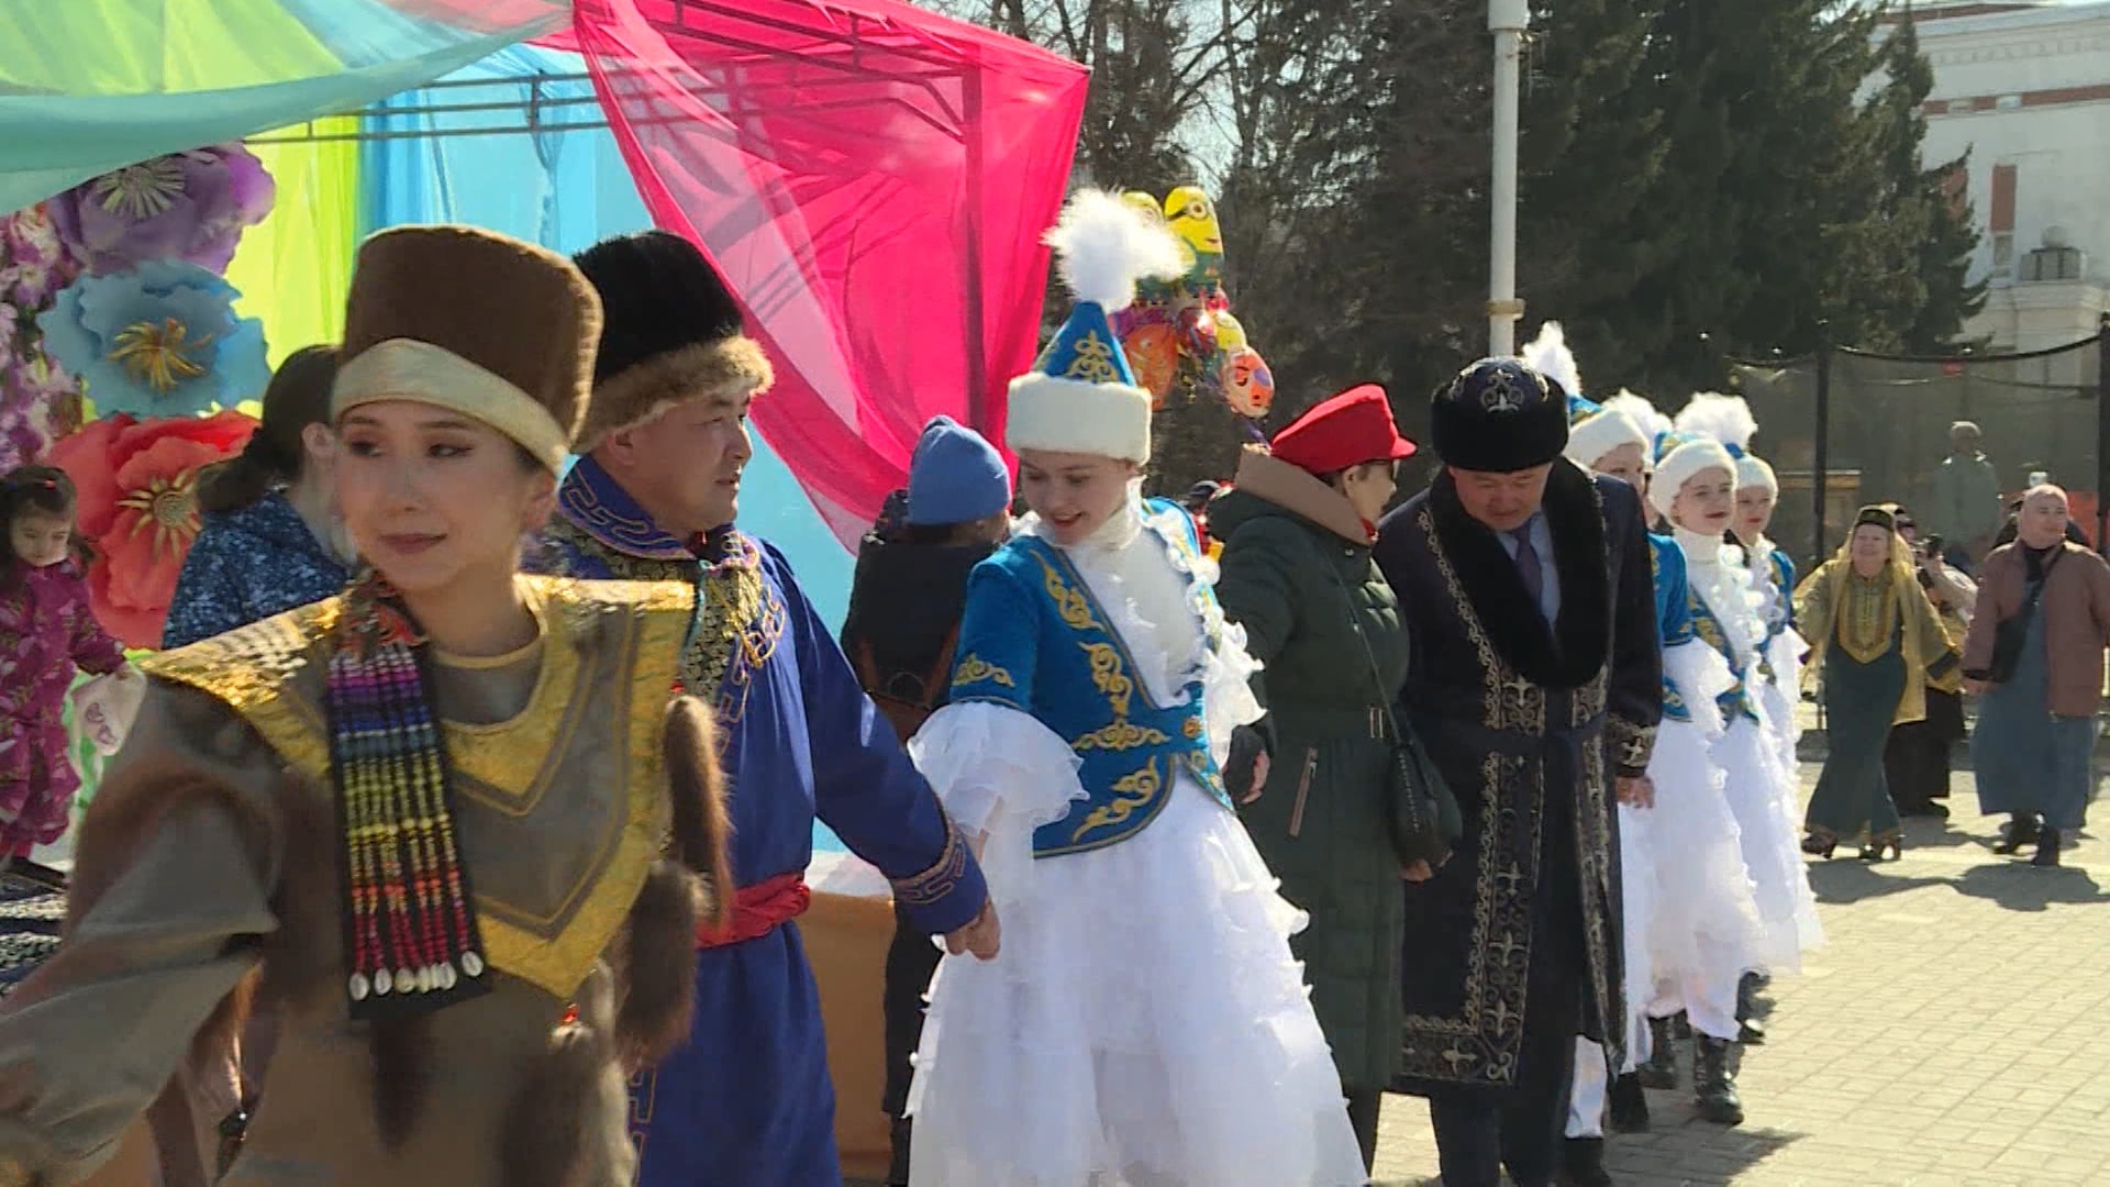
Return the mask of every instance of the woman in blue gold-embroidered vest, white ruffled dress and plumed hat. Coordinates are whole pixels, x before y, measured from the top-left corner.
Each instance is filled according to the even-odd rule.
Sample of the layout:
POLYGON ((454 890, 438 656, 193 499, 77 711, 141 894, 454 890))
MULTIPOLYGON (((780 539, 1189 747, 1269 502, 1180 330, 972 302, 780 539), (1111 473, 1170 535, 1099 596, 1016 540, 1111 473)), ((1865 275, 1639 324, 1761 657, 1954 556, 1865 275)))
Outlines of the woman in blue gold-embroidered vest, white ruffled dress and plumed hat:
POLYGON ((912 741, 1004 910, 1002 957, 931 984, 912 1183, 1363 1183, 1304 917, 1232 815, 1266 777, 1255 665, 1192 520, 1139 496, 1150 395, 1108 310, 1179 249, 1097 192, 1049 241, 1076 306, 1006 433, 1034 513, 968 579, 912 741))

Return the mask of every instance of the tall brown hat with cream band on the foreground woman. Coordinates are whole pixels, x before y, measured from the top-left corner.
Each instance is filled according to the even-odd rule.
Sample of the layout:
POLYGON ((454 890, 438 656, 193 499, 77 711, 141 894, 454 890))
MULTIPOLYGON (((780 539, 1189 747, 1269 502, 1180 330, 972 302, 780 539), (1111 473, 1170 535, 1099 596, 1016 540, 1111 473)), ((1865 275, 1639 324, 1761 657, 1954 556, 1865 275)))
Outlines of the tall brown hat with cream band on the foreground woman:
POLYGON ((329 416, 416 399, 473 416, 553 473, 593 397, 601 300, 555 251, 473 226, 359 245, 329 416))

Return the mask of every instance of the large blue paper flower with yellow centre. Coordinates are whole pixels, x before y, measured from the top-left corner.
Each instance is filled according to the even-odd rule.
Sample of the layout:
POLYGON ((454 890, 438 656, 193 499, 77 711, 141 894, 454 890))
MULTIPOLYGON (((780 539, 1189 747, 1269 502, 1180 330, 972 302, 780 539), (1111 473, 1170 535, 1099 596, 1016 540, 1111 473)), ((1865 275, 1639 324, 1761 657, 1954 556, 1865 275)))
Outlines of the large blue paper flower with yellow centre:
POLYGON ((234 285, 173 260, 80 277, 36 319, 44 351, 89 384, 99 414, 196 416, 270 382, 264 323, 234 317, 234 285))

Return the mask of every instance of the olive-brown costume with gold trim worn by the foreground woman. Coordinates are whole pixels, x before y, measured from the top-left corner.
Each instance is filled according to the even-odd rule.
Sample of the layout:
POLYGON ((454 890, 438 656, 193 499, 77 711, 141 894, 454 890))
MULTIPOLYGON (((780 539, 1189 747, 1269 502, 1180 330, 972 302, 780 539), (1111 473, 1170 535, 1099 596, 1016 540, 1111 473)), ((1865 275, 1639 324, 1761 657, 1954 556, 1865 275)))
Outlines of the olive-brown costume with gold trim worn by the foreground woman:
POLYGON ((485 993, 395 1018, 411 1026, 386 1043, 350 1018, 376 999, 346 976, 357 874, 325 693, 346 600, 156 655, 82 826, 65 946, 0 1007, 0 1185, 108 1160, 257 967, 276 1052, 224 1185, 631 1181, 618 1052, 665 1031, 646 1001, 679 993, 644 969, 688 950, 637 904, 679 822, 663 722, 690 594, 519 581, 538 638, 435 653, 424 676, 485 993), (584 1031, 553 1041, 572 1012, 584 1031))

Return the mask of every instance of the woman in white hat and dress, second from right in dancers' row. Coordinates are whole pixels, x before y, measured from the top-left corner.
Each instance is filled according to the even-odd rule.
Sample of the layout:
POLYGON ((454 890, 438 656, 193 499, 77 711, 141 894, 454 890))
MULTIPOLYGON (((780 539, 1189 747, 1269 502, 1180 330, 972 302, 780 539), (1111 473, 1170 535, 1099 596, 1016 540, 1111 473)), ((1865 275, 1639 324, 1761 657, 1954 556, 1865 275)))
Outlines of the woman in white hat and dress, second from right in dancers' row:
POLYGON ((1656 441, 1648 498, 1671 522, 1692 634, 1720 659, 1720 667, 1709 663, 1694 674, 1701 693, 1711 697, 1694 697, 1686 689, 1671 693, 1680 710, 1709 727, 1709 769, 1705 781, 1665 788, 1656 796, 1658 805, 1675 803, 1684 817, 1673 824, 1663 811, 1656 822, 1663 902, 1656 919, 1658 995, 1650 1005, 1656 1050, 1644 1079, 1675 1081, 1667 1018, 1682 1010, 1694 1031, 1699 1111, 1722 1124, 1743 1119, 1728 1067, 1730 1043, 1747 1037, 1741 978, 1753 967, 1768 967, 1772 942, 1753 893, 1751 836, 1743 826, 1756 813, 1739 811, 1739 805, 1772 805, 1783 779, 1756 697, 1766 636, 1758 596, 1741 553, 1722 543, 1734 490, 1737 460, 1722 441, 1677 431, 1656 441), (1720 682, 1722 667, 1726 686, 1720 682))

